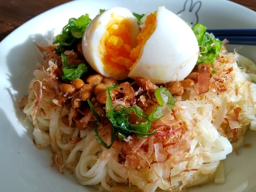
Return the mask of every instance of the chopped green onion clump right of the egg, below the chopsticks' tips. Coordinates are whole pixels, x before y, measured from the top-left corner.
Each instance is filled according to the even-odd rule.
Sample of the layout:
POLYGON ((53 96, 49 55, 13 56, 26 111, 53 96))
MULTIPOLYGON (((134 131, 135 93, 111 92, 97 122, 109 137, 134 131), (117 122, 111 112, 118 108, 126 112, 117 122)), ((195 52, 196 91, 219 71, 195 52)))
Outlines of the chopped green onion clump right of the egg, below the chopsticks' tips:
POLYGON ((221 52, 222 42, 215 38, 213 34, 206 32, 207 27, 203 23, 196 23, 192 30, 194 31, 198 45, 200 46, 200 53, 197 63, 210 63, 218 57, 221 52))

